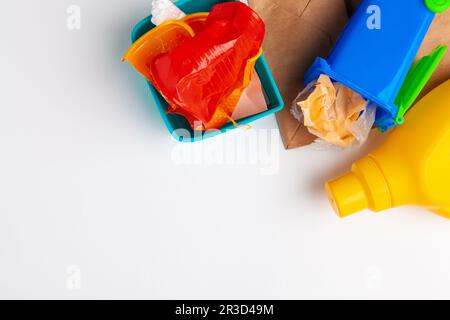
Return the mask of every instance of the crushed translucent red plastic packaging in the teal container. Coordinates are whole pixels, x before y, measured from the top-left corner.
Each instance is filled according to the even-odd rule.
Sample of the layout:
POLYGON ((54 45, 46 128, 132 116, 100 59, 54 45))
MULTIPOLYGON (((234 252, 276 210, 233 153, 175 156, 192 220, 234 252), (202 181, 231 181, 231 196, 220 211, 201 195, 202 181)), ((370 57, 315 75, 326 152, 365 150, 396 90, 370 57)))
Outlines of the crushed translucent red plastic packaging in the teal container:
MULTIPOLYGON (((183 115, 196 130, 218 129, 231 120, 242 91, 250 83, 262 53, 264 22, 245 4, 227 2, 212 8, 197 33, 188 23, 178 22, 177 28, 194 36, 175 40, 160 37, 161 43, 152 51, 161 52, 144 55, 139 65, 145 70, 140 72, 168 101, 169 112, 183 115)), ((153 32, 171 24, 166 22, 153 32)), ((139 45, 133 45, 129 52, 139 51, 139 45)))

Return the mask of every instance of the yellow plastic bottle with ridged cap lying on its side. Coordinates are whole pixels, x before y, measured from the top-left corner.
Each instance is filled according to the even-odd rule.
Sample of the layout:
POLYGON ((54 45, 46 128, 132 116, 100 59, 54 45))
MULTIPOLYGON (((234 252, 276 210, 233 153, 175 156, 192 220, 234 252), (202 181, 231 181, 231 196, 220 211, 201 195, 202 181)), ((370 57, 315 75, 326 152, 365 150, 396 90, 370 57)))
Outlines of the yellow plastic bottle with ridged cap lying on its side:
POLYGON ((450 80, 420 100, 386 143, 326 183, 340 217, 418 205, 450 218, 450 80))

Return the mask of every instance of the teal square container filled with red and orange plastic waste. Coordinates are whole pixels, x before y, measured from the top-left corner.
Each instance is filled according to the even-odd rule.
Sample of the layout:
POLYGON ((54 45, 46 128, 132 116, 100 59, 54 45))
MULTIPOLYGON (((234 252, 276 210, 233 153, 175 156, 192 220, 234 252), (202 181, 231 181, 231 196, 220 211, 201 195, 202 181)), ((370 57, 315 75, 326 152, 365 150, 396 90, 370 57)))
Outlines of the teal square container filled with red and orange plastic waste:
POLYGON ((251 8, 206 0, 179 1, 177 10, 169 0, 155 2, 159 16, 153 22, 159 25, 150 18, 141 21, 124 60, 151 84, 174 137, 183 142, 209 138, 238 127, 237 121, 248 124, 281 110, 262 56, 264 22, 251 8))

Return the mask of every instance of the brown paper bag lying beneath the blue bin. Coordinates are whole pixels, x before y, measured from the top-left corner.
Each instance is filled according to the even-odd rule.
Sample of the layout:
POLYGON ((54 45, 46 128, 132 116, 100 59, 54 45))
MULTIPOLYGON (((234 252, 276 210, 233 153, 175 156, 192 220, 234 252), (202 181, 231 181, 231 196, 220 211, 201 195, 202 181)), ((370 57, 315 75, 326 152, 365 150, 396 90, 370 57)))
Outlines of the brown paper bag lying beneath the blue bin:
MULTIPOLYGON (((284 145, 291 149, 309 144, 316 137, 291 115, 292 101, 304 88, 304 73, 316 57, 327 57, 359 1, 250 0, 249 3, 266 22, 264 55, 285 103, 277 114, 284 145)), ((438 44, 450 45, 450 11, 437 16, 418 57, 429 54, 438 44)), ((448 78, 450 53, 422 96, 448 78)))

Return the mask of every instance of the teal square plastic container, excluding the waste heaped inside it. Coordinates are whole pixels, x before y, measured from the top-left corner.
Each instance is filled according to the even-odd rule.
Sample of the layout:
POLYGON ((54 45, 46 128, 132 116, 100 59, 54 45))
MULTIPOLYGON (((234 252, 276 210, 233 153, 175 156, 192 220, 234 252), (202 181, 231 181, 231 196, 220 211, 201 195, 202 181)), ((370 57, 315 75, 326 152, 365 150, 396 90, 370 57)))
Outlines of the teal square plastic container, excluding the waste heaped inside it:
MULTIPOLYGON (((224 0, 180 0, 176 2, 176 5, 183 10, 184 12, 198 13, 198 12, 209 12, 211 8, 222 2, 228 2, 224 0)), ((151 17, 147 17, 140 21, 131 32, 131 41, 134 43, 137 39, 143 36, 145 33, 153 29, 155 25, 151 22, 151 17)), ((268 110, 262 113, 253 115, 251 117, 247 117, 245 119, 239 120, 239 124, 249 124, 255 120, 261 119, 265 116, 273 114, 275 112, 283 109, 284 103, 281 98, 278 87, 273 79, 273 76, 270 72, 269 66, 267 65, 264 56, 262 55, 255 66, 256 72, 258 73, 259 78, 261 79, 261 84, 264 90, 264 95, 267 102, 268 110)), ((198 140, 203 140, 206 138, 211 138, 221 133, 225 133, 229 130, 235 129, 236 127, 232 123, 227 123, 220 130, 213 131, 205 131, 205 132, 194 132, 194 130, 189 125, 188 121, 180 115, 176 114, 168 114, 167 102, 166 100, 159 94, 159 92, 152 86, 150 82, 148 82, 150 86, 150 93, 152 96, 152 100, 157 106, 167 128, 169 129, 172 136, 181 142, 194 142, 198 140)))

